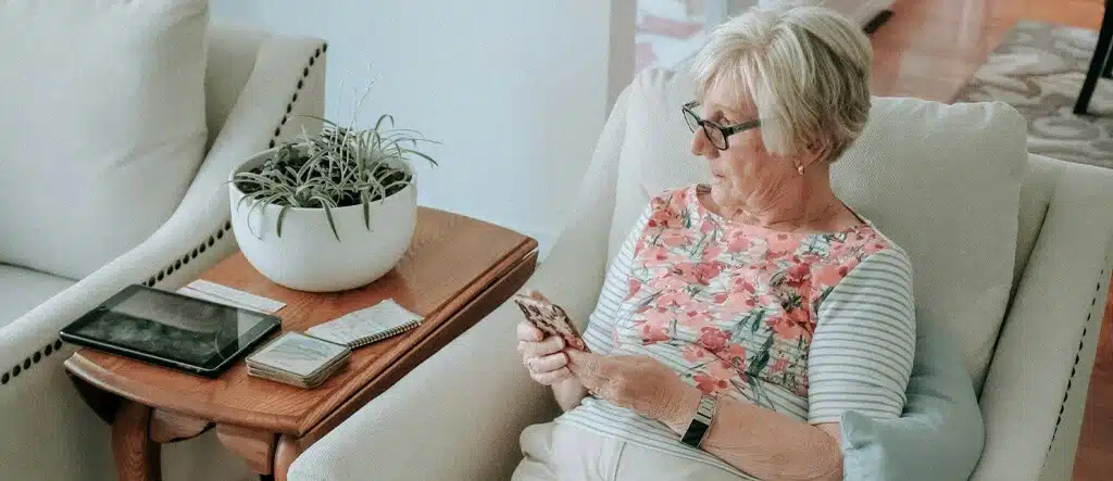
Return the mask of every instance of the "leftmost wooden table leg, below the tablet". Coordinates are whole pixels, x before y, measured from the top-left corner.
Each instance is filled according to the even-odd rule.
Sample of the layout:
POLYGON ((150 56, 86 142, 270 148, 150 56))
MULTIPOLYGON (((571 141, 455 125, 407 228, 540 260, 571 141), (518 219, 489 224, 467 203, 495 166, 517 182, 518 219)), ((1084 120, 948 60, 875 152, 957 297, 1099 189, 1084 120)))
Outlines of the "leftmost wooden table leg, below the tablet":
POLYGON ((161 481, 161 447, 149 435, 151 409, 121 400, 112 421, 112 458, 120 481, 161 481))

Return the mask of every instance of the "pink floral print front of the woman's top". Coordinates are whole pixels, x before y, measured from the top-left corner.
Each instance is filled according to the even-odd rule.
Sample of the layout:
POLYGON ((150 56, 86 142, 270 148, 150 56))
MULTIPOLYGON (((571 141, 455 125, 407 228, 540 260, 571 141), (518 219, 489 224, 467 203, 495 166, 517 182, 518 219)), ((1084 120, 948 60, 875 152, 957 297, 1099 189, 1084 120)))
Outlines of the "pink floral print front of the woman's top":
POLYGON ((668 351, 703 392, 770 405, 772 384, 806 398, 819 304, 889 243, 868 224, 824 234, 732 224, 697 189, 652 200, 623 302, 632 315, 613 339, 668 351))

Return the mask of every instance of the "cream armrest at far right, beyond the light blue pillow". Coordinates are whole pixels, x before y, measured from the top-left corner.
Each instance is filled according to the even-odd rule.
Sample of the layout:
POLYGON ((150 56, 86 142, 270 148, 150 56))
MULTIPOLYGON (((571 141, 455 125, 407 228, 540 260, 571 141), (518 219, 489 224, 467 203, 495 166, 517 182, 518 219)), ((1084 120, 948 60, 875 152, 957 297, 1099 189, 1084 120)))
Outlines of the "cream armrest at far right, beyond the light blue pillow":
POLYGON ((1113 172, 1044 161, 1058 179, 982 391, 975 480, 1064 480, 1074 463, 1109 291, 1113 172))

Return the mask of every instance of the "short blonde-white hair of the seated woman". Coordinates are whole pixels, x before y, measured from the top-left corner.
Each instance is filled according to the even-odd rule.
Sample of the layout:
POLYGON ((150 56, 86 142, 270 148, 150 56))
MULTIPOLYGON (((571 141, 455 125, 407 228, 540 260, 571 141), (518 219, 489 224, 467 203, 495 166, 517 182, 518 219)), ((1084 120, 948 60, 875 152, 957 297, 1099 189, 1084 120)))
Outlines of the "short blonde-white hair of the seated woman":
POLYGON ((701 98, 719 86, 752 99, 770 153, 810 146, 827 161, 866 124, 871 68, 861 28, 823 7, 754 8, 717 27, 691 67, 701 98))

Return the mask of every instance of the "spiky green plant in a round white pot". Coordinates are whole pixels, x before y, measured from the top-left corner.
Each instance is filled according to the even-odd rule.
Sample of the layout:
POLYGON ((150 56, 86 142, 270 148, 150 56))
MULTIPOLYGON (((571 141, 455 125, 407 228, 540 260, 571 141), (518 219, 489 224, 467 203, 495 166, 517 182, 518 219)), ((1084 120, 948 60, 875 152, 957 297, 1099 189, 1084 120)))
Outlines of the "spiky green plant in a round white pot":
MULTIPOLYGON (((357 109, 358 110, 358 109, 357 109)), ((353 116, 353 122, 354 122, 353 116)), ((244 257, 272 281, 312 292, 354 289, 405 254, 416 223, 410 160, 431 142, 384 114, 368 129, 323 122, 232 173, 232 226, 244 257)))

